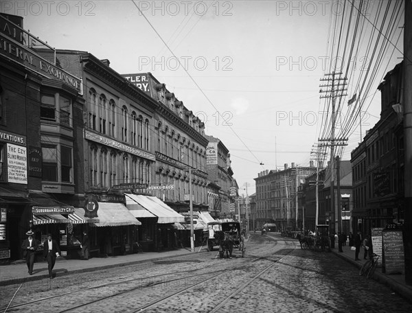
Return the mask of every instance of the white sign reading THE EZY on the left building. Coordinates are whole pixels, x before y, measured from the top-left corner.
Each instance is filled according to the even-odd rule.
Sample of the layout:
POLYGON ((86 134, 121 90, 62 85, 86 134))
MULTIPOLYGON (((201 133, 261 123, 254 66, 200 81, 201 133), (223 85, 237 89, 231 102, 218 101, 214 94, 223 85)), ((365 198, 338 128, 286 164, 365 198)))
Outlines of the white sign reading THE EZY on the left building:
POLYGON ((27 184, 27 148, 7 144, 8 182, 27 184))

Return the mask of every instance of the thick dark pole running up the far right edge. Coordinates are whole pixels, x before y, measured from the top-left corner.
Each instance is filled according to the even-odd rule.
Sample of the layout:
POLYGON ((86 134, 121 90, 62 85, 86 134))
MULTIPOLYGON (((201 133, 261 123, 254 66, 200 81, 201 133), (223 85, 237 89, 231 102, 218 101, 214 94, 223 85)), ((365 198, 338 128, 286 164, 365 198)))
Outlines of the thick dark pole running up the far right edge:
POLYGON ((404 13, 404 262, 405 281, 412 285, 412 2, 405 0, 404 13), (409 87, 408 87, 409 86, 409 87))

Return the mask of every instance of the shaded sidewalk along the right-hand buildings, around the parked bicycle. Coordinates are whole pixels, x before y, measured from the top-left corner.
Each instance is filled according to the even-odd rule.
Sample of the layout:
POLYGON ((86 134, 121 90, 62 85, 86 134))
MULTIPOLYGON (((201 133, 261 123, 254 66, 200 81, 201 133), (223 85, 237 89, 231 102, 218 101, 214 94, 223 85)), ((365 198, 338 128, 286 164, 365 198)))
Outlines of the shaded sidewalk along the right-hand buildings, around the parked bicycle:
MULTIPOLYGON (((361 248, 361 252, 359 253, 360 261, 355 261, 355 251, 350 250, 350 246, 343 246, 343 252, 339 252, 337 245, 335 248, 332 249, 332 253, 338 255, 342 259, 345 259, 347 262, 352 263, 356 266, 356 269, 359 270, 363 266, 363 264, 367 261, 363 259, 363 248, 361 248)), ((407 299, 408 301, 412 301, 412 286, 407 286, 405 283, 405 275, 386 275, 382 273, 382 268, 376 268, 373 279, 379 281, 380 283, 385 284, 391 290, 399 294, 401 297, 407 299)))

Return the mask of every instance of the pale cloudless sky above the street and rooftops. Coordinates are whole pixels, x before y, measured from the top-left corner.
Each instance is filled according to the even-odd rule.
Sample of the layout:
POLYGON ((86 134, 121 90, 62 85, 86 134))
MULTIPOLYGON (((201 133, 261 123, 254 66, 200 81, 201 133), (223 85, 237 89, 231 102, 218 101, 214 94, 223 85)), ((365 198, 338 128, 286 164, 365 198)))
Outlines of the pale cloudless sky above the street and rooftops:
MULTIPOLYGON (((365 10, 369 23, 364 24, 358 47, 367 46, 372 24, 378 27, 374 3, 365 10)), ((205 121, 207 135, 225 144, 239 193, 246 194, 247 189, 251 195, 259 172, 282 169, 284 163, 309 165, 325 121, 320 79, 330 70, 336 49, 331 43, 339 34, 331 30, 343 15, 343 4, 337 0, 2 0, 0 11, 23 16, 24 28, 56 49, 88 51, 110 60, 118 73, 152 73, 205 121)), ((387 36, 382 68, 371 78, 369 93, 362 95, 367 104, 361 109, 361 123, 351 128, 343 160, 350 160, 350 152, 361 141, 356 124, 362 124, 363 137, 379 119, 376 89, 402 57, 401 15, 402 11, 393 20, 393 36, 387 36)), ((350 59, 345 102, 359 90, 356 78, 365 73, 365 60, 371 55, 361 51, 357 49, 350 59)), ((343 105, 341 115, 347 110, 343 105)))

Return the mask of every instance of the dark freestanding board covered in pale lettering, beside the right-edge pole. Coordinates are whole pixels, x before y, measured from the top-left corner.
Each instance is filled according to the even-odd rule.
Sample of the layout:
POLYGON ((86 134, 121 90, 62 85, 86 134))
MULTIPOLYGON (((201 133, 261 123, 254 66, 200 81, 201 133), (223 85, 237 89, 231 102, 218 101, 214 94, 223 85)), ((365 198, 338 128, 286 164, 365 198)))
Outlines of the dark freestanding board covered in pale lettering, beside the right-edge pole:
POLYGON ((385 273, 405 273, 402 231, 382 231, 382 243, 385 273))

